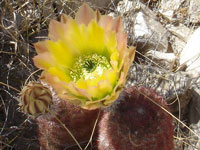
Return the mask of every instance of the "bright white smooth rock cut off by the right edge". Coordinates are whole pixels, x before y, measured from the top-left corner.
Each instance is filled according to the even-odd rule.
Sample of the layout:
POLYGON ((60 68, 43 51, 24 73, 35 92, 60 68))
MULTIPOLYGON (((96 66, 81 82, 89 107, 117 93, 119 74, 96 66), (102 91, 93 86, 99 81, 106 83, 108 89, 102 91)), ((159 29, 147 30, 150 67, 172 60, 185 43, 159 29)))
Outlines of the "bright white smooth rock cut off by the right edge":
POLYGON ((180 54, 180 65, 187 65, 186 71, 200 73, 200 27, 194 31, 180 54))

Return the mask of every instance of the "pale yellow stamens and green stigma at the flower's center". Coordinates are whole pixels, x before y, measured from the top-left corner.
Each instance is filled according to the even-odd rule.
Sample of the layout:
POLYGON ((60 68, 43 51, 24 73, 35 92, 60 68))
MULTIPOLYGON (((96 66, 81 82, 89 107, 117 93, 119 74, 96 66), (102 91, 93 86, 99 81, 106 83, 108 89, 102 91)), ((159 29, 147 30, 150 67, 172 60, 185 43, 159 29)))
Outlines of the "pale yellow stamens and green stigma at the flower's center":
POLYGON ((75 82, 79 79, 94 79, 102 75, 104 70, 110 68, 111 65, 105 56, 98 54, 83 55, 76 59, 70 70, 70 76, 75 82))

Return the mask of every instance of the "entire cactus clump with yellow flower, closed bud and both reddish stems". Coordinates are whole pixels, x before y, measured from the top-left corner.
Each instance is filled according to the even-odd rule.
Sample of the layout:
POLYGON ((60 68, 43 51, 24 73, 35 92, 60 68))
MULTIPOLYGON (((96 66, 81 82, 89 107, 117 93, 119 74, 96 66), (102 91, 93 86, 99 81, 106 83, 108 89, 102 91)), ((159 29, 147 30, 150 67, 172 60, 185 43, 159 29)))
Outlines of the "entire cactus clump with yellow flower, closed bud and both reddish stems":
POLYGON ((38 53, 34 64, 43 70, 41 80, 58 96, 46 97, 52 101, 42 101, 38 107, 40 102, 31 95, 37 88, 23 92, 23 111, 46 113, 37 118, 42 150, 70 149, 76 144, 58 119, 78 142, 87 142, 98 108, 113 102, 98 125, 99 150, 173 150, 172 118, 144 95, 167 109, 161 97, 139 88, 142 95, 132 87, 118 98, 135 54, 134 47, 127 48, 120 17, 100 15, 83 4, 75 19, 63 14, 61 22, 51 20, 49 40, 34 46, 38 53))

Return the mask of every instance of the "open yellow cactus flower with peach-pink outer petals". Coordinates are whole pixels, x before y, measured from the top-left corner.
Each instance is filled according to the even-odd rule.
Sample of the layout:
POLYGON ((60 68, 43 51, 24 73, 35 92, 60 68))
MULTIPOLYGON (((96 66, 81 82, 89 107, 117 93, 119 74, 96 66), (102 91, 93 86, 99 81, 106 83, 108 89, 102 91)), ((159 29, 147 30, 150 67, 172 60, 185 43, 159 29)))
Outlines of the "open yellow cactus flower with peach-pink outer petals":
POLYGON ((51 20, 49 39, 34 44, 41 80, 59 98, 85 109, 109 106, 117 99, 134 59, 120 17, 100 15, 83 4, 75 19, 51 20))

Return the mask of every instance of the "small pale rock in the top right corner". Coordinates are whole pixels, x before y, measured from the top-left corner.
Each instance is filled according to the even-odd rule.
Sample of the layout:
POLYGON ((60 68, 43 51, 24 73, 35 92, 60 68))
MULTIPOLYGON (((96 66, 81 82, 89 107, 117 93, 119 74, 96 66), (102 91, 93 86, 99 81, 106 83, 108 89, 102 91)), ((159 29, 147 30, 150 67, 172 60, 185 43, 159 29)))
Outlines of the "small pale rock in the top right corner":
POLYGON ((200 1, 188 0, 188 15, 191 23, 200 23, 200 1))

